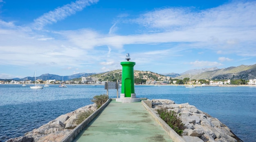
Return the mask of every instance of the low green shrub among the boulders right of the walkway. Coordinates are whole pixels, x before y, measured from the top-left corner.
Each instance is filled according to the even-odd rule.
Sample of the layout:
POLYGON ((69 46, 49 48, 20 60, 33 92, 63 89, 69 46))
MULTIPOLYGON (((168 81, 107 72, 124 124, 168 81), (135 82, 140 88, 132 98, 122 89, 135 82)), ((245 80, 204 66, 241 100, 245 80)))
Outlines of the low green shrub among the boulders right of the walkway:
POLYGON ((177 116, 174 111, 168 111, 167 109, 157 109, 159 117, 166 122, 177 134, 182 135, 184 130, 184 124, 182 120, 177 116))

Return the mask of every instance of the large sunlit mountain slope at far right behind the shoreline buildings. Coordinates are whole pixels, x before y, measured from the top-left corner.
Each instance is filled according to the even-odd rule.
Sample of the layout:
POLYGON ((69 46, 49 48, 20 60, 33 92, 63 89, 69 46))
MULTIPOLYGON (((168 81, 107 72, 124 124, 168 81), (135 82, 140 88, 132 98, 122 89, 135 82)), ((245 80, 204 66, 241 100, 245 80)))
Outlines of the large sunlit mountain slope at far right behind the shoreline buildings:
MULTIPOLYGON (((187 74, 176 77, 177 79, 188 78, 187 74)), ((200 74, 191 75, 191 79, 255 79, 256 78, 256 64, 254 65, 240 65, 238 67, 228 67, 224 69, 216 69, 214 71, 206 71, 200 74)))

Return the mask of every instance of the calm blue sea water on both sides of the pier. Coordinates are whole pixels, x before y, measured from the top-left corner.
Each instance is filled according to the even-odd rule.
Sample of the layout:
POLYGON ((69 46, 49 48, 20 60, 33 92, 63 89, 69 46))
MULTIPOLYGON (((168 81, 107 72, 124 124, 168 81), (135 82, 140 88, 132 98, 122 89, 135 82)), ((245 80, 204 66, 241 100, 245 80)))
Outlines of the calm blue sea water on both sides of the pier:
MULTIPOLYGON (((119 93, 121 90, 119 90, 119 93)), ((135 85, 137 98, 186 103, 218 118, 245 142, 256 141, 256 87, 197 87, 135 85)), ((59 115, 92 104, 106 94, 103 85, 50 85, 33 90, 21 84, 0 84, 0 142, 24 135, 59 115)), ((110 98, 117 91, 109 90, 110 98)))

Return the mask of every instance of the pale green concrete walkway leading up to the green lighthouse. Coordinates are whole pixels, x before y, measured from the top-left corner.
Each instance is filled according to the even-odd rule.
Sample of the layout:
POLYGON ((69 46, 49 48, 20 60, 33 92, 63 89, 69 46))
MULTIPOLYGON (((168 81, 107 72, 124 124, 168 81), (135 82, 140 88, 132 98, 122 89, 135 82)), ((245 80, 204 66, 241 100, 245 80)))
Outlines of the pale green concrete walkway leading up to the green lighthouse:
POLYGON ((173 142, 141 102, 112 100, 74 142, 173 142))

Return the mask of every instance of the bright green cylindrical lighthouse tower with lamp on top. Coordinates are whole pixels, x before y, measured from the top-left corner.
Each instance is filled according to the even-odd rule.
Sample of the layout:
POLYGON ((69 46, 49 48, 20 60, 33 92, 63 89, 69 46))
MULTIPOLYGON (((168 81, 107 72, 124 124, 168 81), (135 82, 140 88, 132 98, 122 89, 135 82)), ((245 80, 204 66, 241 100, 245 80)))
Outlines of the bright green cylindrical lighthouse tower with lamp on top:
POLYGON ((136 98, 136 94, 134 91, 134 74, 133 74, 133 66, 135 62, 130 62, 129 53, 126 54, 126 62, 121 62, 123 67, 122 70, 122 88, 120 98, 130 97, 136 98))

